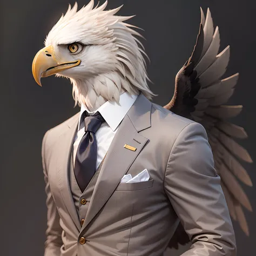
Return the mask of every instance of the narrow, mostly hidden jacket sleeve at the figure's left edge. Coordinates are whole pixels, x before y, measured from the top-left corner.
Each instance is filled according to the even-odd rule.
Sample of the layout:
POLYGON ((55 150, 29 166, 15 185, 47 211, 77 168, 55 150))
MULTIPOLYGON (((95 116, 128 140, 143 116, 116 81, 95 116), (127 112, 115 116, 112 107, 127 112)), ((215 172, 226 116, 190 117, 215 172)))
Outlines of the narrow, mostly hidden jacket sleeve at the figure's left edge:
MULTIPOLYGON (((49 132, 49 131, 48 131, 49 132)), ((48 171, 45 164, 45 144, 48 132, 45 133, 42 143, 42 162, 45 180, 46 206, 47 206, 47 230, 44 256, 59 256, 62 246, 62 227, 59 225, 59 214, 52 197, 48 181, 48 171)))

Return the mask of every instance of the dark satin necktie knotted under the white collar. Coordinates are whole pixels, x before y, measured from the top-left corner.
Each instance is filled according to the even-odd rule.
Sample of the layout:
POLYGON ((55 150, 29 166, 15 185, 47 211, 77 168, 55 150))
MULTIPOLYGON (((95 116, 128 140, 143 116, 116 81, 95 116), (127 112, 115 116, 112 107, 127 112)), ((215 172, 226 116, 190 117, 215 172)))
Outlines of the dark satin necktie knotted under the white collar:
POLYGON ((82 117, 85 117, 85 134, 78 145, 74 171, 77 184, 83 192, 95 174, 97 160, 95 133, 105 120, 99 112, 90 116, 90 114, 85 111, 82 117))

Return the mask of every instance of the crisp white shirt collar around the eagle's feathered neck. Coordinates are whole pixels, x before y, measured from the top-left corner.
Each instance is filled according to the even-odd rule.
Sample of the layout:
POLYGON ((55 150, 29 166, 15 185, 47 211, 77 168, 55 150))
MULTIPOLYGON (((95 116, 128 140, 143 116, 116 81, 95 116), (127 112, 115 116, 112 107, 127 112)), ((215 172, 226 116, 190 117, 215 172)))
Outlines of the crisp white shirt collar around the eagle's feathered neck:
POLYGON ((86 110, 89 113, 95 113, 99 111, 102 117, 105 119, 106 123, 110 126, 112 131, 115 131, 118 125, 122 122, 126 113, 129 111, 138 95, 129 95, 128 92, 122 93, 120 95, 119 104, 116 102, 105 102, 102 106, 100 106, 96 111, 89 111, 85 104, 81 105, 80 115, 79 115, 79 123, 78 130, 80 127, 80 119, 82 113, 86 110))

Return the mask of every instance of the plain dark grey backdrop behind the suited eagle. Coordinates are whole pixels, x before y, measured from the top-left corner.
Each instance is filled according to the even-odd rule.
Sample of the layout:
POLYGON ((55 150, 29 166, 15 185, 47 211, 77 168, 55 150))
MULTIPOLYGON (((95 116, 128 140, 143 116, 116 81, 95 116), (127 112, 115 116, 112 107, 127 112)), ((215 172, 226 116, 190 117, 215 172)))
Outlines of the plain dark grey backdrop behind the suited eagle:
MULTIPOLYGON (((43 255, 46 207, 41 166, 41 143, 46 130, 79 111, 74 109, 69 80, 43 78, 43 87, 33 80, 31 63, 43 47, 46 34, 68 8, 71 0, 1 1, 1 255, 43 255)), ((79 7, 88 1, 79 0, 79 7)), ((103 1, 100 1, 103 3, 103 1)), ((221 50, 231 45, 227 76, 240 72, 230 104, 244 105, 234 122, 245 127, 249 139, 241 144, 256 159, 255 146, 255 5, 254 1, 207 0, 110 0, 109 8, 120 4, 120 15, 137 16, 130 23, 145 29, 146 51, 151 58, 150 87, 164 105, 173 93, 174 77, 190 56, 196 40, 200 10, 211 8, 214 24, 220 27, 221 50)), ((246 164, 254 184, 255 165, 246 164)), ((252 201, 255 188, 243 186, 252 201)), ((245 212, 251 236, 247 238, 237 223, 238 255, 254 254, 255 213, 245 212), (253 244, 254 242, 254 244, 253 244)), ((182 248, 182 251, 185 249, 182 248)), ((180 255, 181 251, 170 252, 180 255)))

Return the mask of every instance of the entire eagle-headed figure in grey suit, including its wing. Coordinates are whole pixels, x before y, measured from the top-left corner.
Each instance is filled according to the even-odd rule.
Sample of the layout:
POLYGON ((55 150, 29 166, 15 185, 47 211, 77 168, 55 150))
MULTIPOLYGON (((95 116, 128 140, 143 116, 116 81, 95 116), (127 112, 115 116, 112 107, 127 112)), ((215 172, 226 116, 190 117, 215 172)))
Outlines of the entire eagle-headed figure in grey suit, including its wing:
POLYGON ((252 211, 239 160, 252 159, 234 140, 246 132, 227 120, 242 109, 225 105, 238 80, 221 78, 229 46, 219 53, 219 29, 201 10, 192 55, 161 107, 150 101, 141 35, 125 22, 133 16, 106 6, 69 5, 32 63, 39 85, 70 78, 81 106, 43 140, 45 255, 160 256, 189 241, 184 256, 235 255, 230 215, 248 235, 242 208, 252 211))

